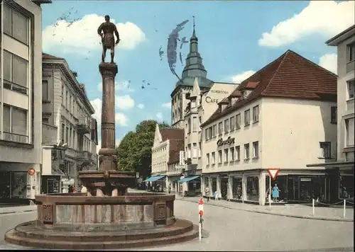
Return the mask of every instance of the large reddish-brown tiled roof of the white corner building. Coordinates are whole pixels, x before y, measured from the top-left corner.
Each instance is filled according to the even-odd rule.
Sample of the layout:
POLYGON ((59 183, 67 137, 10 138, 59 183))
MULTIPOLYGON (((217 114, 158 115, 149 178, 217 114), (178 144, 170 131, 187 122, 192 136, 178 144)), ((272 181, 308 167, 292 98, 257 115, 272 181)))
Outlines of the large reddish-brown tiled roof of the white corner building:
POLYGON ((236 90, 243 91, 250 83, 258 84, 245 99, 219 113, 216 110, 201 126, 214 122, 231 111, 261 97, 336 101, 337 75, 308 59, 288 50, 248 79, 241 82, 236 90))

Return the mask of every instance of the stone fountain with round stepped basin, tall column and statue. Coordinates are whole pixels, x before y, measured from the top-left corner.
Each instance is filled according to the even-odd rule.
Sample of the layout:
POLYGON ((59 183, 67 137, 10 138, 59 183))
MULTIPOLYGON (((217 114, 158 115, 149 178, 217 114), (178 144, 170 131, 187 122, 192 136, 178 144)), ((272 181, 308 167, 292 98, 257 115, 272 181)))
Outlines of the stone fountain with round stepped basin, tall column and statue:
POLYGON ((136 185, 135 173, 120 171, 116 165, 114 122, 114 79, 118 72, 114 59, 116 25, 100 25, 103 53, 102 149, 99 171, 80 171, 87 193, 36 195, 38 217, 19 224, 5 234, 5 241, 20 246, 46 249, 117 249, 158 246, 195 239, 196 227, 175 219, 175 195, 129 193, 136 185), (105 63, 107 48, 111 63, 105 63))

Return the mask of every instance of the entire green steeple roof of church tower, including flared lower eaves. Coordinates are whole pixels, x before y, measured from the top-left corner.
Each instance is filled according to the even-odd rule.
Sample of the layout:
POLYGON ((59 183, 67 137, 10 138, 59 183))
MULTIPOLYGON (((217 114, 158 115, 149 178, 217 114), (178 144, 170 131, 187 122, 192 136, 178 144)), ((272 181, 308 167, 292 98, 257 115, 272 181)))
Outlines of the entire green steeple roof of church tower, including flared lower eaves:
POLYGON ((193 86, 195 78, 199 86, 207 87, 211 84, 211 80, 207 79, 207 71, 202 64, 202 57, 198 51, 198 38, 195 32, 195 17, 192 36, 190 38, 190 52, 186 58, 186 64, 182 71, 182 81, 178 81, 176 86, 193 86))

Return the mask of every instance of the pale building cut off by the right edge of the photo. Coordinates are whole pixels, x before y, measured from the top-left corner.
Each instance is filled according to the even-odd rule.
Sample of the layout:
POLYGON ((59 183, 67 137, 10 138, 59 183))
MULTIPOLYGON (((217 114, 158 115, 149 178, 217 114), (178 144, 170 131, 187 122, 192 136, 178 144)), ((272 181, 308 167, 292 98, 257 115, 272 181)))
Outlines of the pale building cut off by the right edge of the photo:
POLYGON ((333 174, 332 201, 354 200, 355 25, 326 43, 338 51, 337 162, 309 167, 324 166, 333 174))

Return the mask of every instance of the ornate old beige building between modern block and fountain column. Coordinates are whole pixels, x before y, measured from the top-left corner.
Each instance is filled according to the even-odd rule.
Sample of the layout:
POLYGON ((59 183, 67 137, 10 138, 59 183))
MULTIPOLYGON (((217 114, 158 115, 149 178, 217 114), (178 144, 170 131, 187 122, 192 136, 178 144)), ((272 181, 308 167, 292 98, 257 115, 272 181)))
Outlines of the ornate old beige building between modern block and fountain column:
POLYGON ((97 122, 84 84, 65 59, 43 54, 43 193, 77 186, 77 172, 97 169, 97 122))

